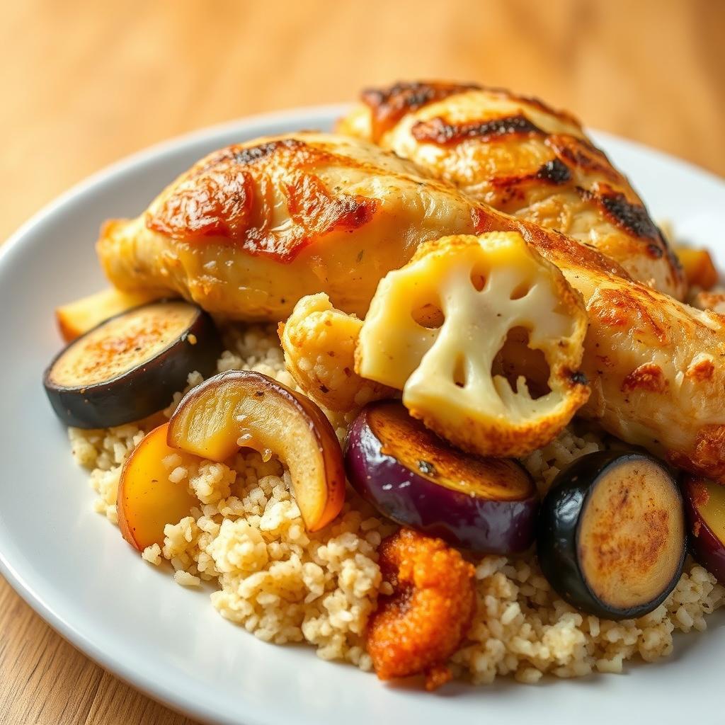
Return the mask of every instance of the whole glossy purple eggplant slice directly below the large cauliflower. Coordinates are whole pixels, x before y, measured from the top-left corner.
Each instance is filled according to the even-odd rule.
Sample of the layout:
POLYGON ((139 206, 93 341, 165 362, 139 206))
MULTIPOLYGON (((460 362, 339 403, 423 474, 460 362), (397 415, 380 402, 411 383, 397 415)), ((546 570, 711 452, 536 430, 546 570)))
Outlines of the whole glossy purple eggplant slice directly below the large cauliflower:
POLYGON ((539 500, 521 465, 455 449, 397 401, 363 408, 345 468, 383 515, 454 546, 510 554, 534 541, 539 500))

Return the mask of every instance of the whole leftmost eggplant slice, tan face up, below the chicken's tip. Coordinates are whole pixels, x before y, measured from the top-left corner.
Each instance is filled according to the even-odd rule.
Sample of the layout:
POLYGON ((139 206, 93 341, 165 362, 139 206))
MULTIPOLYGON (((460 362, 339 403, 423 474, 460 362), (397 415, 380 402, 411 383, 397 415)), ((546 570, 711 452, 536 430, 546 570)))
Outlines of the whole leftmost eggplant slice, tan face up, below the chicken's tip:
POLYGON ((193 370, 212 373, 221 350, 206 312, 178 300, 154 302, 73 341, 46 370, 43 385, 63 423, 120 426, 166 407, 193 370))

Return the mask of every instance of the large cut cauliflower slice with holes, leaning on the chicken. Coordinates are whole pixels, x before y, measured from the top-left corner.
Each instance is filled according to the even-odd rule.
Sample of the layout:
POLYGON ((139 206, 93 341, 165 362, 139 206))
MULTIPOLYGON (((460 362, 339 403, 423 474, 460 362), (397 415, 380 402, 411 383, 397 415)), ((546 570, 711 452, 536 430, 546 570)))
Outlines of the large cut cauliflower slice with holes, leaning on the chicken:
POLYGON ((380 282, 356 370, 458 447, 523 456, 587 401, 586 332, 579 294, 520 234, 447 236, 380 282))

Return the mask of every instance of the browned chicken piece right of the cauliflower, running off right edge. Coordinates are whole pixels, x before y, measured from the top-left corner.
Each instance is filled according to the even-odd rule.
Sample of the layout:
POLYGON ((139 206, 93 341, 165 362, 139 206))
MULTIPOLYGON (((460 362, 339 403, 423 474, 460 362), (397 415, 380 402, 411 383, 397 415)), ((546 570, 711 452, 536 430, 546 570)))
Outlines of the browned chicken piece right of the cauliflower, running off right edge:
POLYGON ((515 229, 562 270, 587 307, 581 415, 674 465, 725 483, 725 316, 632 280, 575 240, 493 210, 477 231, 515 229))

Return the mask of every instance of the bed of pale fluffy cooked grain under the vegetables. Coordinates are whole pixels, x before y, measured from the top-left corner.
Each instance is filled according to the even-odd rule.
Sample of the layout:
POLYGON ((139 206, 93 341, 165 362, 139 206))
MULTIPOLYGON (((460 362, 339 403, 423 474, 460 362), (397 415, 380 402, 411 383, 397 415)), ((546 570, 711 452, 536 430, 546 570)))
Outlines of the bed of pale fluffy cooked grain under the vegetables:
MULTIPOLYGON (((257 370, 294 386, 271 328, 236 332, 228 344, 220 371, 257 370)), ((200 381, 196 373, 189 376, 190 386, 200 381)), ((181 394, 167 415, 179 399, 181 394)), ((342 436, 345 421, 333 418, 333 423, 342 436)), ((143 435, 144 429, 135 425, 70 430, 75 460, 91 470, 98 493, 95 508, 113 523, 120 467, 143 435)), ((560 468, 604 445, 593 434, 565 431, 529 456, 526 467, 544 491, 560 468)), ((307 534, 289 493, 289 474, 276 460, 263 463, 256 452, 193 469, 176 463, 167 461, 171 478, 191 487, 199 507, 167 525, 163 547, 149 547, 144 559, 157 566, 169 562, 183 586, 217 583, 212 605, 260 639, 310 642, 322 658, 369 670, 365 624, 378 593, 389 591, 381 581, 377 547, 396 526, 349 491, 341 516, 324 531, 307 534)), ((705 615, 725 598, 715 578, 688 561, 666 602, 645 617, 613 622, 581 614, 560 600, 533 555, 485 556, 475 563, 478 610, 451 666, 476 683, 509 674, 533 683, 544 673, 620 672, 624 660, 656 660, 671 653, 674 630, 704 630, 705 615)))

